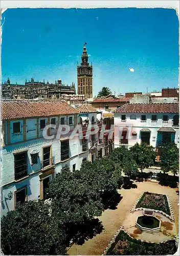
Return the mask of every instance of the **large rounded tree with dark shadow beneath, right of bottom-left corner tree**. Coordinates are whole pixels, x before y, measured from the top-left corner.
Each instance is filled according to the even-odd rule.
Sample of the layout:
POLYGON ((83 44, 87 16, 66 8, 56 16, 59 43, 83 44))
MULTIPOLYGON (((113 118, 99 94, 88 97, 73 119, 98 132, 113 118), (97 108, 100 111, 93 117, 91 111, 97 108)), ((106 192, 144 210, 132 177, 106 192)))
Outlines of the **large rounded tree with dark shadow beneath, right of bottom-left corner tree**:
POLYGON ((57 216, 59 226, 66 230, 69 240, 81 244, 103 229, 99 220, 93 221, 102 214, 103 203, 90 175, 91 163, 87 165, 90 168, 86 174, 82 169, 73 173, 64 169, 50 182, 48 191, 52 214, 57 216))

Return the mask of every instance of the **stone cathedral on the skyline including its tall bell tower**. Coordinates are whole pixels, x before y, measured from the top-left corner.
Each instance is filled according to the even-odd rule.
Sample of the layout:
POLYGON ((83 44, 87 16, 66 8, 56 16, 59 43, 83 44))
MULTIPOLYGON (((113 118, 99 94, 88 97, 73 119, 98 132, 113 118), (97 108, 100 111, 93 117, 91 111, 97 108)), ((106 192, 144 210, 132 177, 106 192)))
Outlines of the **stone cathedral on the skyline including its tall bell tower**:
MULTIPOLYGON (((88 63, 88 54, 86 42, 84 43, 83 53, 81 55, 81 65, 77 66, 78 95, 84 95, 86 99, 93 99, 93 65, 88 63)), ((62 95, 76 94, 75 83, 65 86, 61 79, 54 83, 49 81, 39 82, 34 78, 25 82, 25 84, 11 83, 8 78, 2 84, 3 99, 59 99, 62 95)))

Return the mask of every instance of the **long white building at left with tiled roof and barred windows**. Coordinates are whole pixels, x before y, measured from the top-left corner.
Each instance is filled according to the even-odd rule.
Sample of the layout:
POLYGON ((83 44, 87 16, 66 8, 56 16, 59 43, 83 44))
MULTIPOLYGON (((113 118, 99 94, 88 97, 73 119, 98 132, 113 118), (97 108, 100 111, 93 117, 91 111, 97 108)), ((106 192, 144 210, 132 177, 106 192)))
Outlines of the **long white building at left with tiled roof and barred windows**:
POLYGON ((19 201, 46 198, 48 182, 66 164, 73 171, 90 160, 88 144, 70 139, 78 113, 60 101, 2 101, 2 215, 19 201), (52 139, 42 136, 47 124, 56 127, 48 130, 52 139), (68 124, 70 132, 57 138, 59 124, 68 124))

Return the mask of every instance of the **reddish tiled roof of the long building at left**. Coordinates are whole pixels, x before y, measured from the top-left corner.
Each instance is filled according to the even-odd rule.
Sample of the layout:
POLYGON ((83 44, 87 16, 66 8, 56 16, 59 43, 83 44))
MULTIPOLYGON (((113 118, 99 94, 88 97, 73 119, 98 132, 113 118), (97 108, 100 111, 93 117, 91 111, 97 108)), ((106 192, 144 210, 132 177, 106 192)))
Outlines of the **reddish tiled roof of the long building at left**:
POLYGON ((46 117, 78 114, 68 103, 62 101, 2 101, 2 119, 46 117))

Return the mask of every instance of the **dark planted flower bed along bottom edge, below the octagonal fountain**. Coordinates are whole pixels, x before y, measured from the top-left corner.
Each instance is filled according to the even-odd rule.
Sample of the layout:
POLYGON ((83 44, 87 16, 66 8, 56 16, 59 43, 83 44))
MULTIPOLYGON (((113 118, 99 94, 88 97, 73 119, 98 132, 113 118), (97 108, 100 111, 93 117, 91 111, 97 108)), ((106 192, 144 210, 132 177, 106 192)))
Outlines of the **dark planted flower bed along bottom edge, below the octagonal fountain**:
POLYGON ((173 255, 176 250, 175 240, 148 243, 133 239, 121 230, 106 255, 173 255))

